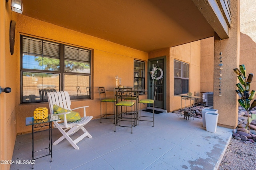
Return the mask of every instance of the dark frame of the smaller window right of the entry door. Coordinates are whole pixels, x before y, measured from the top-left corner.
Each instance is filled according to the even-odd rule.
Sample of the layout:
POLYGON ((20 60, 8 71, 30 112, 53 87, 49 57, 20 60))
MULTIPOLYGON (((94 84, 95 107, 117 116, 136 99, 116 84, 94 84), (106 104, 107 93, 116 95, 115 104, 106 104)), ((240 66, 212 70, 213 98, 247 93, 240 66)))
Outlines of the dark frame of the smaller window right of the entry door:
POLYGON ((176 60, 174 59, 174 95, 182 95, 182 94, 187 94, 189 92, 189 63, 186 63, 186 62, 183 62, 183 61, 179 61, 179 60, 176 60), (176 63, 175 62, 179 62, 181 67, 180 69, 179 68, 176 68, 176 63), (184 66, 186 69, 184 69, 184 66), (179 73, 177 76, 175 76, 175 73, 177 72, 176 69, 180 70, 180 76, 179 76, 179 73), (186 72, 185 74, 185 77, 184 77, 184 73, 186 72), (177 83, 177 80, 181 81, 180 82, 180 91, 179 93, 176 92, 176 86, 175 85, 177 83), (187 81, 185 81, 187 80, 187 81), (185 89, 186 91, 184 92, 184 84, 187 82, 187 89, 185 89))

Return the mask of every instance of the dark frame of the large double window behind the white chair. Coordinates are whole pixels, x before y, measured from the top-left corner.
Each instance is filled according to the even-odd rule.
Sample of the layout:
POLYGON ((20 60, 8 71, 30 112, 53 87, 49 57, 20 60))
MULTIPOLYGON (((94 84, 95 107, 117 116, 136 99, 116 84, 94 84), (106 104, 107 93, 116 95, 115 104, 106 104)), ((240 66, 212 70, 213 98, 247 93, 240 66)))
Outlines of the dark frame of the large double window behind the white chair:
MULTIPOLYGON (((39 49, 40 50, 40 49, 39 49)), ((44 49, 43 49, 43 46, 42 46, 42 53, 44 53, 44 49)), ((33 56, 33 55, 32 55, 33 56)), ((37 55, 34 55, 34 56, 37 56, 37 55)), ((48 39, 42 39, 42 38, 37 38, 37 37, 32 37, 32 36, 27 36, 27 35, 20 35, 20 104, 30 104, 30 103, 42 103, 42 102, 48 102, 46 100, 40 100, 40 101, 30 101, 30 102, 25 102, 23 101, 24 100, 24 92, 23 92, 23 89, 24 89, 24 84, 23 84, 23 73, 24 72, 30 72, 30 73, 42 73, 42 74, 58 74, 59 75, 59 80, 58 80, 58 86, 59 87, 56 87, 57 91, 64 91, 65 90, 65 75, 77 75, 78 77, 79 76, 85 76, 84 78, 87 78, 87 76, 89 79, 87 82, 89 84, 89 93, 88 93, 88 90, 87 93, 85 92, 84 95, 80 95, 80 96, 75 96, 74 94, 71 95, 70 94, 70 99, 71 100, 92 100, 92 56, 93 56, 93 50, 92 49, 89 49, 89 48, 86 48, 86 47, 79 47, 79 46, 75 46, 75 45, 69 45, 67 43, 59 43, 59 42, 56 42, 56 41, 52 41, 52 40, 48 40, 48 39), (59 70, 45 70, 42 66, 42 69, 34 69, 34 68, 24 68, 24 63, 23 63, 23 38, 28 38, 28 39, 38 39, 39 41, 42 41, 42 44, 44 42, 49 42, 49 43, 55 43, 55 44, 58 44, 59 45, 59 70), (90 71, 88 72, 69 72, 69 71, 65 71, 65 55, 64 55, 64 47, 67 46, 67 47, 72 47, 72 48, 75 48, 75 49, 78 49, 78 51, 80 49, 84 50, 84 51, 88 51, 89 53, 89 62, 88 62, 88 65, 89 65, 89 69, 90 71)), ((44 56, 42 56, 44 57, 44 56)), ((82 56, 83 57, 83 56, 82 56)), ((76 63, 76 62, 74 62, 76 63)), ((77 63, 75 64, 77 66, 77 63)), ((78 70, 78 68, 77 68, 78 70)), ((43 76, 40 77, 40 78, 44 78, 43 76)), ((67 80, 66 80, 67 81, 67 80)), ((32 84, 32 83, 31 83, 32 84)), ((29 84, 28 84, 29 85, 29 84)), ((42 84, 42 86, 44 86, 45 84, 42 84)), ((76 87, 76 86, 74 86, 76 87)), ((67 91, 67 90, 65 90, 67 91)), ((73 90, 74 91, 74 90, 73 90)))

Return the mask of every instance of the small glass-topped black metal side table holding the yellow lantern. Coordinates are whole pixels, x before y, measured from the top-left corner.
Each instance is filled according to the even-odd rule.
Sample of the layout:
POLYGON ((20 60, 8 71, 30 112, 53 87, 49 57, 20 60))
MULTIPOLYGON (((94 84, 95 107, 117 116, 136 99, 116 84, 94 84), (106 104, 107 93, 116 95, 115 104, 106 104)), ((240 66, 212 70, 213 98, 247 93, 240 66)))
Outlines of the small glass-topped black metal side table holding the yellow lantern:
MULTIPOLYGON (((32 160, 36 160, 38 158, 42 158, 44 156, 51 155, 52 162, 52 121, 60 120, 57 115, 50 114, 47 118, 42 120, 35 120, 34 117, 26 117, 26 126, 32 125, 32 160), (34 133, 48 131, 49 132, 49 146, 44 149, 34 151, 34 133), (38 158, 34 158, 34 153, 39 152, 41 150, 49 149, 48 154, 40 156, 38 158)), ((32 169, 34 169, 34 164, 32 165, 32 169)))

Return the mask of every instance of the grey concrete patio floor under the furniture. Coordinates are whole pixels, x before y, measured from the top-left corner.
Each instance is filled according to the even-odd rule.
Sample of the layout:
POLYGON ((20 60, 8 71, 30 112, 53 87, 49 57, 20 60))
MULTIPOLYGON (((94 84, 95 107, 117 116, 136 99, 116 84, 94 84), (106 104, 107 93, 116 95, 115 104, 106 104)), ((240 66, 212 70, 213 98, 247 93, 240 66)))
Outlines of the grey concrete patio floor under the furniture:
MULTIPOLYGON (((152 113, 142 111, 142 114, 152 113)), ((25 123, 25 122, 24 122, 25 123)), ((140 121, 133 128, 117 127, 113 119, 99 119, 85 125, 92 139, 85 137, 74 149, 66 139, 52 146, 50 156, 35 160, 35 170, 217 170, 232 137, 232 129, 206 131, 202 119, 187 121, 176 113, 155 114, 155 123, 140 121)), ((61 136, 53 129, 53 141, 61 136)), ((72 136, 78 137, 79 131, 72 136)), ((48 133, 34 135, 36 150, 47 147, 48 133)), ((46 153, 38 152, 37 155, 46 153)), ((32 159, 32 135, 18 135, 12 160, 32 159)), ((32 164, 12 164, 11 170, 28 170, 32 164)))

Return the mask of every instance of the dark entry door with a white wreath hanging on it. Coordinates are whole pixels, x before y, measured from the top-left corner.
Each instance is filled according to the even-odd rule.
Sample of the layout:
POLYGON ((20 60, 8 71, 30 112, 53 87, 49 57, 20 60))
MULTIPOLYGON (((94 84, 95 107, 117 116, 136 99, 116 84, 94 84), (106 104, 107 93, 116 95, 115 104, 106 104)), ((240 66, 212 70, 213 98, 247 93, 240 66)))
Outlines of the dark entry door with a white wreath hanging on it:
MULTIPOLYGON (((156 79, 152 79, 151 73, 149 74, 149 93, 150 93, 150 98, 153 98, 154 90, 157 87, 156 91, 156 100, 155 100, 155 107, 158 108, 164 108, 164 59, 159 59, 159 60, 154 60, 150 61, 149 65, 149 71, 152 71, 153 68, 158 68, 155 72, 156 79)), ((153 106, 153 105, 152 105, 153 106)))

